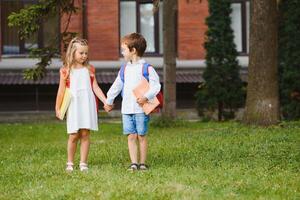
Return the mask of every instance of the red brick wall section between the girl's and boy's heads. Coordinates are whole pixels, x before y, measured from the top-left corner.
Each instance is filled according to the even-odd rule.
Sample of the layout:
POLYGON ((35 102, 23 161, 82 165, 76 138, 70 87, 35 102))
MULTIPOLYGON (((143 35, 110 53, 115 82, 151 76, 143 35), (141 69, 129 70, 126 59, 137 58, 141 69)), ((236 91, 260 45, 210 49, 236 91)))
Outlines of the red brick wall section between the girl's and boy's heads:
POLYGON ((119 59, 119 1, 87 0, 90 60, 119 59))

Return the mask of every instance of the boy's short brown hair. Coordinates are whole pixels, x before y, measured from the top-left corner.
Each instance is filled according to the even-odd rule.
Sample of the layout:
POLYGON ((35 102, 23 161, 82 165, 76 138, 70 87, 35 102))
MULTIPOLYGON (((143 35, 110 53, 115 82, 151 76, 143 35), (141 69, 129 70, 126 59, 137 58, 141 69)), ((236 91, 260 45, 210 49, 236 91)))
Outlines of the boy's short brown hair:
POLYGON ((125 35, 121 39, 121 43, 126 44, 130 51, 132 51, 133 48, 135 48, 136 53, 139 57, 142 57, 144 55, 144 52, 147 48, 147 42, 145 38, 139 33, 131 33, 125 35))

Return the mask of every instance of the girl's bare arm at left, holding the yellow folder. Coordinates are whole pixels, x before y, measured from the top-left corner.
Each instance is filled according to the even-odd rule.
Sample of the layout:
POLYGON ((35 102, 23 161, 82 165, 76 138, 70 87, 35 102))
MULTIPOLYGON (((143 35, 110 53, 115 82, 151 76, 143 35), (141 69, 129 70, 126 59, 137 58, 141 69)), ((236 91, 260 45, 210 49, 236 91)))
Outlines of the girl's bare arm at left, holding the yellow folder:
POLYGON ((66 89, 66 80, 68 77, 68 72, 67 73, 63 73, 63 68, 61 68, 59 70, 59 86, 58 86, 58 91, 57 91, 57 95, 56 95, 56 103, 55 103, 55 112, 56 112, 56 116, 59 116, 59 109, 60 106, 62 104, 63 101, 63 97, 64 97, 64 93, 65 93, 65 89, 66 89))

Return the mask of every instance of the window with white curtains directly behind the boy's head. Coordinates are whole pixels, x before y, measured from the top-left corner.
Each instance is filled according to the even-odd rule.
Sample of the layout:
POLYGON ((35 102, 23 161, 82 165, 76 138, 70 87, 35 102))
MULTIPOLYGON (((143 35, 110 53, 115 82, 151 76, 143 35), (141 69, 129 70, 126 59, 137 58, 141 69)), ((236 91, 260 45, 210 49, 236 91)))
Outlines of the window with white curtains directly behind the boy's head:
POLYGON ((121 0, 120 37, 139 32, 147 40, 146 55, 162 54, 162 6, 153 14, 152 0, 121 0))

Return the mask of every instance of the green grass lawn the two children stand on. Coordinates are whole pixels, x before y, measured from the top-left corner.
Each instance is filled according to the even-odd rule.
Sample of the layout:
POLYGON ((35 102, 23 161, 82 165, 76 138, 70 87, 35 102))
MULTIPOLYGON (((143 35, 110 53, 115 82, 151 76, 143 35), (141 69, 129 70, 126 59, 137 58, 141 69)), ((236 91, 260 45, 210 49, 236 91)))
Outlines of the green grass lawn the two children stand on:
POLYGON ((134 173, 121 124, 99 128, 89 172, 66 173, 65 124, 0 124, 0 199, 300 199, 299 122, 152 125, 150 170, 134 173))

